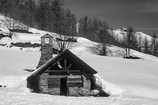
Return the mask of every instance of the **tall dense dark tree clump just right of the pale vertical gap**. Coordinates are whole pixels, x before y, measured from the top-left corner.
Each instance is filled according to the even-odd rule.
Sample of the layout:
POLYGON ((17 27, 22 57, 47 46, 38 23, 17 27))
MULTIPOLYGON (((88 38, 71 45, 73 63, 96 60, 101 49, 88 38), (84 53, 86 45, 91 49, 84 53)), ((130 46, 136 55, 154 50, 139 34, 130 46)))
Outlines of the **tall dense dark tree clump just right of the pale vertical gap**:
POLYGON ((110 34, 110 27, 105 21, 85 16, 80 18, 79 23, 79 35, 90 40, 100 42, 101 55, 107 55, 107 44, 117 43, 117 41, 110 34))

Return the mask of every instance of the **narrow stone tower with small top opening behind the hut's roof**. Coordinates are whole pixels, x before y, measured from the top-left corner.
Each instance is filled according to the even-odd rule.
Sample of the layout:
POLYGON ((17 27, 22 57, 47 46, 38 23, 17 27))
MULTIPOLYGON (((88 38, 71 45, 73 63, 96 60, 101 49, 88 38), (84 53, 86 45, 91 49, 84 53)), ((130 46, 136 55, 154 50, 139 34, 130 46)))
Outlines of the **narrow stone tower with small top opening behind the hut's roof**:
POLYGON ((53 57, 53 42, 54 38, 49 34, 41 37, 41 57, 37 68, 53 57))

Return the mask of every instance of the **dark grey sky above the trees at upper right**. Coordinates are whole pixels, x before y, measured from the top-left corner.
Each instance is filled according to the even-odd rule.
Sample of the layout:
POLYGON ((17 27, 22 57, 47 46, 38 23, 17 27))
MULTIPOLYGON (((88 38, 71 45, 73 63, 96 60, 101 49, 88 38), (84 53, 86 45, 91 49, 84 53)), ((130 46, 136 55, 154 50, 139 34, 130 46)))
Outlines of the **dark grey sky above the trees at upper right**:
POLYGON ((132 26, 136 31, 158 34, 158 0, 64 0, 77 17, 105 20, 113 27, 132 26))

